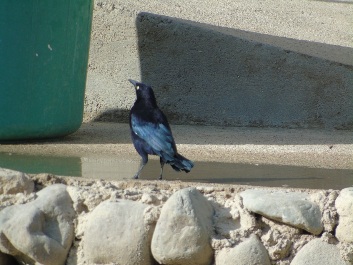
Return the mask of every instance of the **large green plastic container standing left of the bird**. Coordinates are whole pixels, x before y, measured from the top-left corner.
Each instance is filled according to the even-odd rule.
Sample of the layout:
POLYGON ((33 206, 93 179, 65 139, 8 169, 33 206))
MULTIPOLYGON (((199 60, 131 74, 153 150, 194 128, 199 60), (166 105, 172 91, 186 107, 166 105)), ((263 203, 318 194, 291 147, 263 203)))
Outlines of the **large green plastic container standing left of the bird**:
POLYGON ((0 8, 0 141, 65 136, 82 124, 93 0, 0 8))

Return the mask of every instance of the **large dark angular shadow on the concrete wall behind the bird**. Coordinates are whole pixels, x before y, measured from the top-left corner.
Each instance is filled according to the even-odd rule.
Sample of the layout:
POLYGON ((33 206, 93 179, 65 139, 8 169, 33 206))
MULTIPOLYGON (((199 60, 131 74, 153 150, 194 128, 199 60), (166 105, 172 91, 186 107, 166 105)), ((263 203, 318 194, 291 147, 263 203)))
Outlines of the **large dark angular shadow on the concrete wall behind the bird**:
POLYGON ((142 82, 172 124, 353 128, 353 66, 283 49, 351 48, 150 13, 136 28, 142 82))

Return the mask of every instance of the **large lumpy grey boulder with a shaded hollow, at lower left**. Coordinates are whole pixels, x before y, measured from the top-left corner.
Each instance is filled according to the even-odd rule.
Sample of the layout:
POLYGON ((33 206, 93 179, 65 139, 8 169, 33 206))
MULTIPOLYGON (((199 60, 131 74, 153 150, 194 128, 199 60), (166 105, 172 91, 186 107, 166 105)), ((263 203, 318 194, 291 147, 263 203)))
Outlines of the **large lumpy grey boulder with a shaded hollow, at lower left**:
POLYGON ((0 212, 0 251, 23 263, 64 264, 74 237, 75 212, 66 185, 54 184, 34 201, 0 212))

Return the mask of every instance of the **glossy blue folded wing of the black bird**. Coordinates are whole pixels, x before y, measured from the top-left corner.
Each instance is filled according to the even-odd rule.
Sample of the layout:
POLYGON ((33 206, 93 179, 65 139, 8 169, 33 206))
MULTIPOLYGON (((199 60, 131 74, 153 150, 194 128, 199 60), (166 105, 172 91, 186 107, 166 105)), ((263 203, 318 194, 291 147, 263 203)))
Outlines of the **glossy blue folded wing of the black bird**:
POLYGON ((136 116, 131 115, 131 127, 133 132, 148 143, 158 155, 163 151, 170 157, 174 157, 172 133, 162 123, 141 124, 136 116))

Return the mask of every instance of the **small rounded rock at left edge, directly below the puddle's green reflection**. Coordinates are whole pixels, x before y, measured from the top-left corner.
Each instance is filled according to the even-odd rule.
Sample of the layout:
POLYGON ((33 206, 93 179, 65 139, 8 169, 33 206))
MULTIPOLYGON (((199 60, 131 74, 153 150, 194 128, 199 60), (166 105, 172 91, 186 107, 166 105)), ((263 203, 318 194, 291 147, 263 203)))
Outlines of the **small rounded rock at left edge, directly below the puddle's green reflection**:
POLYGON ((0 194, 30 194, 34 191, 34 182, 25 173, 0 167, 0 194))

